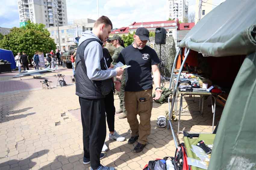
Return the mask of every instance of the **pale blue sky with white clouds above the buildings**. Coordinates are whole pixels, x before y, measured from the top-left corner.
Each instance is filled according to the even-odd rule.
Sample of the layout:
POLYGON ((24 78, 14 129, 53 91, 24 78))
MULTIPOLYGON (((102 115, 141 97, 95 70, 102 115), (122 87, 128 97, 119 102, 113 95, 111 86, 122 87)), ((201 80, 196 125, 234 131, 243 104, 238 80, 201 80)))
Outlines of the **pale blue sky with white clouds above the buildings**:
MULTIPOLYGON (((188 0, 189 13, 195 12, 195 1, 188 0)), ((216 5, 223 2, 223 0, 214 1, 216 5)), ((66 2, 68 20, 97 19, 96 0, 66 0, 66 2)), ((0 0, 0 4, 2 4, 0 27, 19 27, 17 0, 0 0)), ((110 18, 113 28, 129 26, 133 22, 164 21, 166 20, 166 0, 99 0, 99 16, 101 15, 110 18)))

